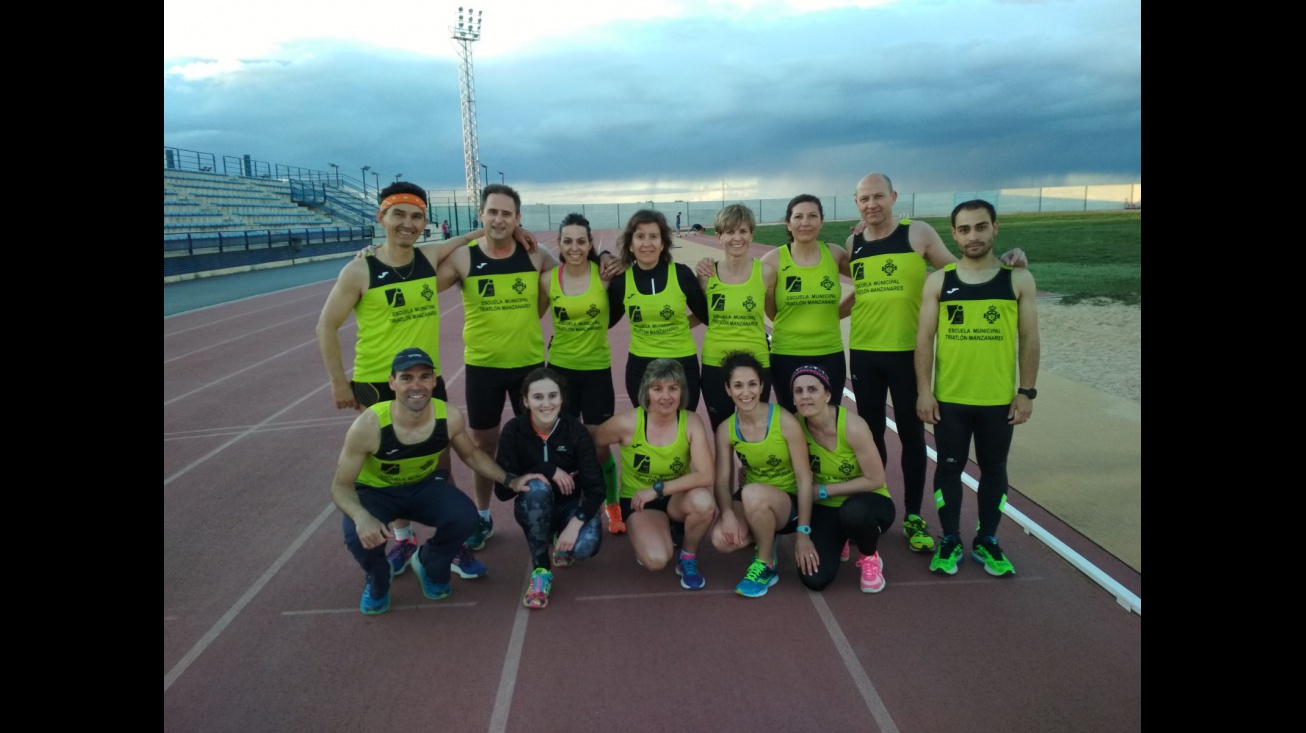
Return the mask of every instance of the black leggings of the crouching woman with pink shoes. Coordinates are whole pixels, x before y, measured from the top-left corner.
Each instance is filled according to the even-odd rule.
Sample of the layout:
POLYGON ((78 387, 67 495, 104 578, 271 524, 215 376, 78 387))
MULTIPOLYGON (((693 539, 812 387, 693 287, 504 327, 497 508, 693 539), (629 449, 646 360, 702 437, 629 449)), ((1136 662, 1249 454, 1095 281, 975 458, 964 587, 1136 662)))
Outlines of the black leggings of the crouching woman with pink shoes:
POLYGON ((798 579, 812 591, 823 591, 838 575, 844 542, 852 542, 863 555, 874 555, 880 534, 892 527, 893 519, 893 499, 874 491, 853 494, 837 507, 812 504, 812 545, 820 563, 816 572, 799 572, 798 579))

